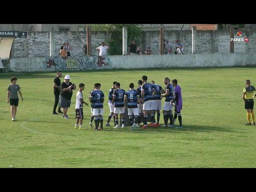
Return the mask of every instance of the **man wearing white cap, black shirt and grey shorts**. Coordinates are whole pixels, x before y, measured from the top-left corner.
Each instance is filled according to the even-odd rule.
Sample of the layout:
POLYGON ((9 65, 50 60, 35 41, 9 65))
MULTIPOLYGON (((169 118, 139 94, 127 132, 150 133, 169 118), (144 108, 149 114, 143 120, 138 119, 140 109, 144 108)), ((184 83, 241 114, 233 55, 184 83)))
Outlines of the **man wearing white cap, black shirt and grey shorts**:
POLYGON ((68 119, 69 117, 67 116, 68 108, 70 107, 71 104, 71 98, 73 91, 76 89, 76 85, 72 84, 70 82, 70 76, 66 75, 64 78, 64 82, 60 84, 60 107, 63 108, 63 118, 68 119))

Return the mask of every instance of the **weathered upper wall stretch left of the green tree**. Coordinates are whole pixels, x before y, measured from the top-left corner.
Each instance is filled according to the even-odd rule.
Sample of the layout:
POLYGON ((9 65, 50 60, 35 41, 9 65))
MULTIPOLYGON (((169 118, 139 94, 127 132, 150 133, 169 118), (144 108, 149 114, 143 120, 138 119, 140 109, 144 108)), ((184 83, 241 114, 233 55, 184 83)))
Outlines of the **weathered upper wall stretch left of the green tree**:
MULTIPOLYGON (((98 55, 96 48, 106 42, 106 32, 92 32, 92 54, 98 55)), ((86 32, 54 32, 54 56, 58 56, 60 46, 66 41, 71 46, 70 54, 80 56, 86 42, 86 32)), ((27 38, 14 40, 13 58, 45 57, 50 55, 50 32, 28 32, 27 38)))

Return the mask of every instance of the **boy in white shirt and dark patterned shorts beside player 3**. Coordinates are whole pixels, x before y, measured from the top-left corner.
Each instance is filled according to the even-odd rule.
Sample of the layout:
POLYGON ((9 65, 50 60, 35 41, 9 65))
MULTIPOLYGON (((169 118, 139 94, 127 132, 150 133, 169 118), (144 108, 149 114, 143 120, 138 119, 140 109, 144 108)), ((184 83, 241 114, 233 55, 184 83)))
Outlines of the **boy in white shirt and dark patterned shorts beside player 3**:
POLYGON ((82 91, 84 90, 85 85, 83 83, 79 84, 79 90, 76 93, 76 125, 75 129, 78 129, 78 123, 80 122, 79 129, 86 129, 82 128, 83 119, 84 119, 84 113, 83 113, 83 105, 88 104, 84 102, 82 91))

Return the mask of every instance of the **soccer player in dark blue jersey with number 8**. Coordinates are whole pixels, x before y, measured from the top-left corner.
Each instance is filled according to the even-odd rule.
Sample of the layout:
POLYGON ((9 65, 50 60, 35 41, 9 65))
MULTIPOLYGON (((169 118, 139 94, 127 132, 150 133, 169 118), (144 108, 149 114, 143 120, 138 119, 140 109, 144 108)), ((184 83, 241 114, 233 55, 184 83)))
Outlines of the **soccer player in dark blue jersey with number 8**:
POLYGON ((138 123, 138 104, 140 104, 140 96, 137 90, 134 90, 134 84, 129 84, 130 90, 126 91, 124 95, 124 102, 128 103, 128 115, 129 115, 129 122, 131 130, 135 130, 136 124, 138 123), (132 120, 132 115, 134 115, 134 121, 132 120))

